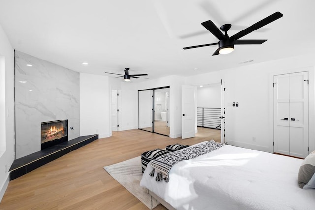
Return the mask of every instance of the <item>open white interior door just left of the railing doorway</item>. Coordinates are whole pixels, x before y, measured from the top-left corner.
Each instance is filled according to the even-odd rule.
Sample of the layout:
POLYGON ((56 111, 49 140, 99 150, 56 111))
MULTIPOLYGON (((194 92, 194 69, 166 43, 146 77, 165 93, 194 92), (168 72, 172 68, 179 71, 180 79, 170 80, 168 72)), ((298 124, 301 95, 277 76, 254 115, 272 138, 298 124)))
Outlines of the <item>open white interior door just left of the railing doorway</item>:
POLYGON ((182 85, 182 139, 196 136, 196 87, 182 85))

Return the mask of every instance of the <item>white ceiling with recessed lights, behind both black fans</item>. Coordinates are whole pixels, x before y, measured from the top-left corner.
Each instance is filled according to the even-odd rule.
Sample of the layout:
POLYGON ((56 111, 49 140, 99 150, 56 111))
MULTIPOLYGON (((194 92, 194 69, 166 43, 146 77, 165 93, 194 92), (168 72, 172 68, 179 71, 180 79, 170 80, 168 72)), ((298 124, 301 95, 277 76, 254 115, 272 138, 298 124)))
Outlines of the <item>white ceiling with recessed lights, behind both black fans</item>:
POLYGON ((110 77, 104 72, 128 67, 147 73, 132 80, 143 81, 312 53, 314 8, 314 0, 0 0, 0 24, 18 51, 110 77), (262 45, 236 45, 217 56, 217 46, 182 49, 218 41, 204 21, 232 24, 232 36, 276 11, 284 16, 244 36, 268 39, 262 45))

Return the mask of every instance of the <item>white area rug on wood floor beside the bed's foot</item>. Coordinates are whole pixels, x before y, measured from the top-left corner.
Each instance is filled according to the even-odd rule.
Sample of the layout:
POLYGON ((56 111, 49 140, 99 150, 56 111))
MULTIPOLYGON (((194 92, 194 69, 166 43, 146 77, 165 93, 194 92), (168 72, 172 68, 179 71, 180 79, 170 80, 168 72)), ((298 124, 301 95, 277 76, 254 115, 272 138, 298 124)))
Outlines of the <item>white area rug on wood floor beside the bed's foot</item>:
POLYGON ((104 169, 149 209, 152 210, 159 205, 159 202, 148 194, 148 190, 140 186, 142 178, 140 156, 104 166, 104 169))

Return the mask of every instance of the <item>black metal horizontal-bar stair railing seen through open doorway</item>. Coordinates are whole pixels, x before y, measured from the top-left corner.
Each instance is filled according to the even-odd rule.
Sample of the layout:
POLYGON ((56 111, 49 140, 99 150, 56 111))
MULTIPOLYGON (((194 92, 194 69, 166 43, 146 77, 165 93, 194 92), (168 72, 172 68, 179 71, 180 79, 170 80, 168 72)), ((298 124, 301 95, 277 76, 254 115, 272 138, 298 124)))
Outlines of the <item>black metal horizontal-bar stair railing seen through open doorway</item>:
POLYGON ((197 107, 197 126, 221 130, 221 108, 197 107))

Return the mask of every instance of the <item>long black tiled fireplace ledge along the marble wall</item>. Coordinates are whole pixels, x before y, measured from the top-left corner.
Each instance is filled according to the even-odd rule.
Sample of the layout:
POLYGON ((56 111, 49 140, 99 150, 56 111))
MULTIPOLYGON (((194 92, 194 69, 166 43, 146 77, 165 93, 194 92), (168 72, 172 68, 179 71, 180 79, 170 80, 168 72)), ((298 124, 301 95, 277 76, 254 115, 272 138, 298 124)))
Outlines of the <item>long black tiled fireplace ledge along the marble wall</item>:
POLYGON ((98 134, 89 136, 80 136, 78 138, 56 144, 52 147, 45 148, 41 151, 29 154, 25 157, 15 159, 9 170, 10 180, 21 177, 32 170, 45 165, 73 150, 76 150, 84 145, 87 145, 98 139, 98 134))

